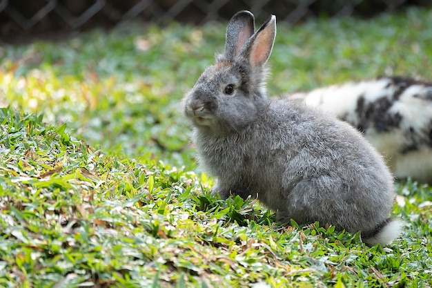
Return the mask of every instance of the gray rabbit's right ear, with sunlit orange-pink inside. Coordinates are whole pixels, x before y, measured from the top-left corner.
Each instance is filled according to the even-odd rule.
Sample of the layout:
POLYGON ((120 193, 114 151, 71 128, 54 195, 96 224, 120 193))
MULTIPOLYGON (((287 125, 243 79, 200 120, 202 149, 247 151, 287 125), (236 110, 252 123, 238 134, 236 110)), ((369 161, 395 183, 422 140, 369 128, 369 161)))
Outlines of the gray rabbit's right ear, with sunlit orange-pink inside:
POLYGON ((276 37, 276 17, 271 15, 251 38, 249 53, 251 66, 263 66, 270 57, 276 37))

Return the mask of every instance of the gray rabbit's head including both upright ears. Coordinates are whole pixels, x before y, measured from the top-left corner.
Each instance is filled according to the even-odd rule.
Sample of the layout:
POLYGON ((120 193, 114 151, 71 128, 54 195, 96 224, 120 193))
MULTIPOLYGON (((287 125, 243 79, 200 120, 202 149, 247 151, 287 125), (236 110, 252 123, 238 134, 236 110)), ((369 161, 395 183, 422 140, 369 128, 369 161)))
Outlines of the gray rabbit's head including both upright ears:
POLYGON ((200 130, 239 131, 265 108, 264 65, 275 40, 275 16, 254 30, 252 13, 237 12, 226 28, 225 52, 184 97, 184 114, 200 130))

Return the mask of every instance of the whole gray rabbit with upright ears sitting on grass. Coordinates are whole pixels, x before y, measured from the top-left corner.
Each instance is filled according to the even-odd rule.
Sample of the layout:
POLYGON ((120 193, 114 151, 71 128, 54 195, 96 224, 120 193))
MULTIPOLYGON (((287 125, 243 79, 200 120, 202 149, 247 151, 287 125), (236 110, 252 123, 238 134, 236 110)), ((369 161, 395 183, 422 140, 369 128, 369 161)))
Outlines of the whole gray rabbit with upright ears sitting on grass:
POLYGON ((279 222, 319 221, 389 244, 402 223, 389 218, 393 177, 382 157, 345 122, 267 97, 276 20, 256 32, 254 22, 248 11, 230 19, 224 54, 183 99, 198 162, 217 177, 214 191, 257 197, 279 222))

